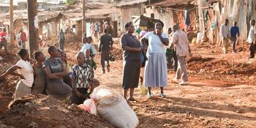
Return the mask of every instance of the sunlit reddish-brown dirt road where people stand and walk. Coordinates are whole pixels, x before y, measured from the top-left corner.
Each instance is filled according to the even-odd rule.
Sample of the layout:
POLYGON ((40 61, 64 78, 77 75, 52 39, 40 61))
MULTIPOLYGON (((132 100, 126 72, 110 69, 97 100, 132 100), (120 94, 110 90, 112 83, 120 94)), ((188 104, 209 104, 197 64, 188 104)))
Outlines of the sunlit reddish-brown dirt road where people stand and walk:
MULTIPOLYGON (((121 51, 118 42, 115 48, 121 51)), ((138 102, 129 105, 140 119, 139 127, 255 127, 255 59, 248 60, 248 51, 243 48, 238 53, 222 54, 221 48, 192 45, 193 57, 187 58, 189 85, 175 83, 175 72, 170 70, 169 84, 165 88, 167 98, 158 97, 159 89, 154 89, 154 98, 146 99, 140 88, 135 89, 138 102)), ((78 49, 78 44, 67 46, 71 65, 75 64, 78 49)), ((96 61, 95 77, 101 85, 122 93, 122 61, 111 62, 111 70, 105 75, 100 69, 99 55, 96 61)), ((8 78, 8 81, 12 79, 8 78)), ((12 93, 14 88, 15 83, 10 89, 12 93)), ((11 99, 12 93, 3 94, 5 89, 1 87, 1 103, 11 99)))

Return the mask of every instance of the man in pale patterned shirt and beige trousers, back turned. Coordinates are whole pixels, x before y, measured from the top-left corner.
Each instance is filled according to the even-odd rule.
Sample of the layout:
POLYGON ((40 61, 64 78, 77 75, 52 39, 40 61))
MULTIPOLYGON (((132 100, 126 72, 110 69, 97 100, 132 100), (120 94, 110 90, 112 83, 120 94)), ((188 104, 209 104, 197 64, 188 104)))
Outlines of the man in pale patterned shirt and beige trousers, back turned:
POLYGON ((187 39, 187 34, 184 31, 181 31, 178 25, 173 26, 173 44, 175 45, 176 52, 177 52, 177 58, 178 58, 178 69, 176 72, 176 82, 178 82, 178 79, 182 79, 181 83, 179 83, 181 86, 184 86, 188 83, 187 78, 187 68, 186 68, 186 61, 185 57, 190 54, 190 48, 189 48, 189 40, 187 39))

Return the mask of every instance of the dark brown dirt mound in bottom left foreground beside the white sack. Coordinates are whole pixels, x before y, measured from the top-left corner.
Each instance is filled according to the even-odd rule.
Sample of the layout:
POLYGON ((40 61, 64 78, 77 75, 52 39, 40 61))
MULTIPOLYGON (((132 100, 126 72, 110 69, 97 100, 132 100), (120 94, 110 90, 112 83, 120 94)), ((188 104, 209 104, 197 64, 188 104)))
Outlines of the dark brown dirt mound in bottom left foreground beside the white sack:
POLYGON ((111 127, 104 119, 85 113, 76 105, 41 94, 16 100, 0 121, 12 127, 111 127))

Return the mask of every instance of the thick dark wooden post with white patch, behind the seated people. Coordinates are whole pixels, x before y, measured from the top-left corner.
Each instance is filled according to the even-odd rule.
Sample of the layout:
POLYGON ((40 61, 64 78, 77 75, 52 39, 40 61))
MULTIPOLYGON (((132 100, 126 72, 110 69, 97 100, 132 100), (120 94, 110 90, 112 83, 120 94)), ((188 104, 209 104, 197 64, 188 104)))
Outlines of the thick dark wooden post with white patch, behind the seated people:
POLYGON ((27 0, 28 20, 29 20, 29 50, 33 56, 34 50, 38 50, 38 15, 37 0, 27 0))

